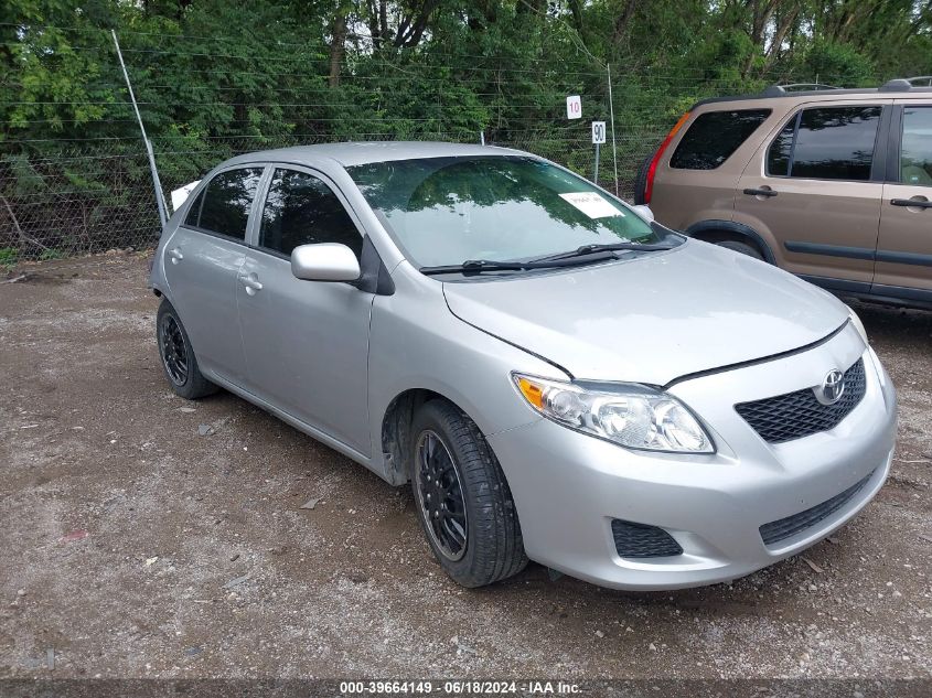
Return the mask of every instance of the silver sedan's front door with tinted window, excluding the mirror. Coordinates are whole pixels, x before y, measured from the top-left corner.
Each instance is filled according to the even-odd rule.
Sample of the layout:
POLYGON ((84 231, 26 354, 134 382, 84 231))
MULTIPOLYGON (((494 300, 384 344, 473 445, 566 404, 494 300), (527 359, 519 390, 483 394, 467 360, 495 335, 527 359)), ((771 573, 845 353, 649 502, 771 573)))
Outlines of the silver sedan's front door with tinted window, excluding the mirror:
POLYGON ((291 250, 363 238, 328 182, 310 170, 276 169, 236 298, 247 389, 326 436, 369 455, 368 327, 374 296, 343 282, 302 281, 291 250))

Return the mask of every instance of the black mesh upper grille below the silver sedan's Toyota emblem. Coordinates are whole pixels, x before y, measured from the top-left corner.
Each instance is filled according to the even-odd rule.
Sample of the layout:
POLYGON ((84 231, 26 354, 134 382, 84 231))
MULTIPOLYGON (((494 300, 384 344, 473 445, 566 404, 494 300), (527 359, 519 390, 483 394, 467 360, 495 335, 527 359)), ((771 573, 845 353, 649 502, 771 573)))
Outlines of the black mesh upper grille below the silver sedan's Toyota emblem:
POLYGON ((741 402, 735 409, 764 441, 782 443, 834 429, 857 407, 866 387, 864 359, 859 358, 845 372, 845 391, 834 405, 823 405, 815 399, 812 388, 803 388, 763 400, 741 402))

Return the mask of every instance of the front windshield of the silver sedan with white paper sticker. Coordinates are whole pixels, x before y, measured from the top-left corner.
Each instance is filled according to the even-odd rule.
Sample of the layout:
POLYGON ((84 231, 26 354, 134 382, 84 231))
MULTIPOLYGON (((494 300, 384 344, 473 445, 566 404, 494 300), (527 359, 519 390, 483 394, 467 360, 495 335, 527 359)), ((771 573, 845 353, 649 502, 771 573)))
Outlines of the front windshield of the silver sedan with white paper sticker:
POLYGON ((347 171, 418 267, 526 260, 585 245, 660 241, 630 208, 534 158, 424 158, 347 171))

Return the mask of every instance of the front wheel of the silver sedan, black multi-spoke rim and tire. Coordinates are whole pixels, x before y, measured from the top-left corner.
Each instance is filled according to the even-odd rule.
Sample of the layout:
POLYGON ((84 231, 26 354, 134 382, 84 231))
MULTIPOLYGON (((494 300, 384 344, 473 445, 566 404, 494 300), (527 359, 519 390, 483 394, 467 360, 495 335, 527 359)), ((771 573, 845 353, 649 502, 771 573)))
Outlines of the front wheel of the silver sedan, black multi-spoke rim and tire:
POLYGON ((443 400, 411 425, 411 486, 430 549, 463 587, 482 587, 527 565, 505 475, 469 417, 443 400))

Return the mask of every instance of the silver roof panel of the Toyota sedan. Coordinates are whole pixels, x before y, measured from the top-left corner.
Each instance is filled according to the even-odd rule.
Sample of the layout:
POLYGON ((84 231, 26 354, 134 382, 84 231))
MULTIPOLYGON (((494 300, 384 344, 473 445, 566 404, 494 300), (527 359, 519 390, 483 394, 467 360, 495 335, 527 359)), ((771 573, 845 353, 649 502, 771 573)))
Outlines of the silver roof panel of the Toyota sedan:
POLYGON ((227 160, 224 165, 249 162, 289 162, 314 165, 321 161, 338 162, 344 168, 369 162, 413 160, 417 158, 457 158, 470 155, 528 155, 521 150, 496 146, 473 146, 436 141, 363 141, 296 146, 245 153, 227 160))

